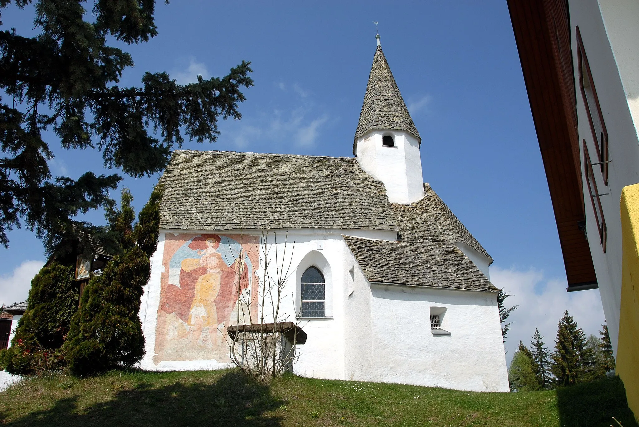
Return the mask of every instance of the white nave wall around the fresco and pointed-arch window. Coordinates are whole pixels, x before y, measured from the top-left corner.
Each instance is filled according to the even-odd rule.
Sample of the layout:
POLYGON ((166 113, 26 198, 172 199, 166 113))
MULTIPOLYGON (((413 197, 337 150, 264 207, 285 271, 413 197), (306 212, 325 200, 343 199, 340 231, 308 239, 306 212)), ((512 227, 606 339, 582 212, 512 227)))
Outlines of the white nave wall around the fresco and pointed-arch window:
MULTIPOLYGON (((147 370, 213 370, 227 368, 226 363, 215 360, 195 361, 161 361, 153 363, 155 356, 155 333, 157 327, 157 313, 160 306, 161 276, 164 272, 162 257, 166 234, 203 234, 222 231, 212 230, 161 230, 157 250, 151 257, 151 277, 144 288, 141 299, 140 318, 142 332, 146 340, 146 354, 139 366, 147 370)), ((233 233, 233 232, 231 232, 233 233)), ((258 231, 254 233, 260 235, 258 231)), ((290 263, 288 281, 282 292, 280 321, 295 321, 295 313, 299 307, 300 278, 304 270, 314 265, 324 274, 327 283, 326 316, 320 319, 300 319, 299 324, 309 337, 304 345, 298 345, 298 361, 294 371, 298 375, 318 378, 344 378, 344 294, 347 289, 345 276, 348 274, 345 264, 345 253, 348 251, 342 234, 348 236, 366 237, 380 240, 395 240, 397 232, 389 230, 339 230, 339 229, 290 229, 271 231, 267 243, 275 253, 274 242, 277 238, 277 253, 279 264, 288 266, 290 263), (286 255, 284 251, 286 246, 286 255)), ((352 257, 352 255, 350 255, 352 257)), ((352 263, 352 261, 351 261, 352 263)), ((352 264, 351 264, 352 266, 352 264)), ((263 266, 258 270, 261 277, 263 266)), ((275 277, 274 264, 270 266, 270 275, 275 277)), ((363 276, 362 276, 363 277, 363 276)), ((365 284, 364 284, 365 285, 365 284)), ((362 294, 362 292, 358 293, 362 294)), ((266 304, 265 322, 272 321, 268 315, 270 305, 266 304)), ((370 311, 366 311, 369 315, 370 311)))

